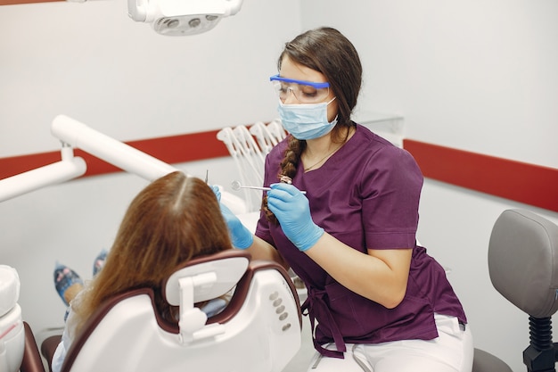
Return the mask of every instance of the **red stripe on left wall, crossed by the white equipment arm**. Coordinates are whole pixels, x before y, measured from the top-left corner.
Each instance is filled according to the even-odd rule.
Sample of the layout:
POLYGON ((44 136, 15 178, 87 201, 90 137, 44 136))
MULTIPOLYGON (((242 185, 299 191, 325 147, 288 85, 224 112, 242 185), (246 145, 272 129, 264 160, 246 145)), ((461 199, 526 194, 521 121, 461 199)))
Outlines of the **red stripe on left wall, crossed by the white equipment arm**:
MULTIPOLYGON (((228 156, 226 145, 217 139, 217 132, 218 130, 211 130, 178 136, 165 136, 130 141, 126 144, 169 164, 228 156)), ((121 171, 114 165, 82 150, 75 149, 74 155, 84 158, 87 163, 87 171, 83 177, 121 171)), ((0 179, 12 177, 60 160, 60 150, 0 158, 0 179)))

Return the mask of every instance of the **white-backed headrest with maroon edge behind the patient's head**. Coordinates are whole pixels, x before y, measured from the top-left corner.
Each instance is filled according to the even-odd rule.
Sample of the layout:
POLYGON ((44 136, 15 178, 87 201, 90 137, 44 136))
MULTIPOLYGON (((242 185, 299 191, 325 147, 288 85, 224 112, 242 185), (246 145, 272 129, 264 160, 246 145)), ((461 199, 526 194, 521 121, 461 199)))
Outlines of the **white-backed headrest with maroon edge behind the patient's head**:
POLYGON ((234 249, 190 260, 168 277, 164 285, 165 298, 169 304, 178 306, 178 280, 181 277, 194 277, 205 273, 214 273, 216 278, 212 283, 196 286, 193 302, 204 302, 222 296, 238 283, 249 262, 250 253, 234 249))

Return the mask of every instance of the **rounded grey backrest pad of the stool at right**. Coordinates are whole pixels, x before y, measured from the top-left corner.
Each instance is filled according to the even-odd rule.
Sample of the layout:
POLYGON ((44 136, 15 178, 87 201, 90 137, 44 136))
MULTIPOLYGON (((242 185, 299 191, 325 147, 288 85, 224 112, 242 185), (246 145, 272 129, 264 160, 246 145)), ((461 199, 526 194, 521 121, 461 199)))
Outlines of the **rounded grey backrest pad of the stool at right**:
POLYGON ((530 211, 504 211, 488 245, 492 285, 534 318, 558 310, 558 226, 530 211))

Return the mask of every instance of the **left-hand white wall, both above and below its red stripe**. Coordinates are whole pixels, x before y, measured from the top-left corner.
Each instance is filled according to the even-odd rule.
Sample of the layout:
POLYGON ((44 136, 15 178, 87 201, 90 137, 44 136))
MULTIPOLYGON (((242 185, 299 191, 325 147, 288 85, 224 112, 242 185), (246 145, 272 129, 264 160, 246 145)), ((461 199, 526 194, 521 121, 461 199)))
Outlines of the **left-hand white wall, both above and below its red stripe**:
MULTIPOLYGON (((244 0, 241 12, 192 37, 164 37, 127 17, 125 0, 0 6, 0 157, 58 151, 50 126, 66 114, 127 141, 273 120, 268 77, 300 32, 294 0, 244 0)), ((196 146, 196 144, 191 144, 196 146)), ((224 186, 228 158, 178 165, 224 186)), ((0 262, 18 269, 24 318, 42 337, 63 325, 56 260, 92 275, 146 181, 112 174, 0 203, 0 262)))

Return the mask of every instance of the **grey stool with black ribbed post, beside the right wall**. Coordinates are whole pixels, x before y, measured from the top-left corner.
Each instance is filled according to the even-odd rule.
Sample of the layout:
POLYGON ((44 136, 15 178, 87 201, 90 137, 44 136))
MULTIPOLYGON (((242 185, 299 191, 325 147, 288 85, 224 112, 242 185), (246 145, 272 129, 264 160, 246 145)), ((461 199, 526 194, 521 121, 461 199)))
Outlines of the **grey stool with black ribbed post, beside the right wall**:
MULTIPOLYGON (((551 317, 558 310, 558 226, 530 211, 504 211, 492 228, 488 271, 496 290, 529 315, 529 372, 555 371, 558 343, 551 317)), ((475 349, 473 372, 512 372, 504 361, 475 349)))

